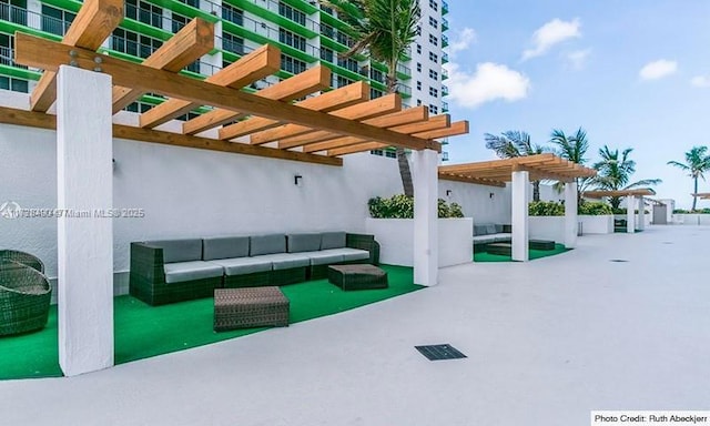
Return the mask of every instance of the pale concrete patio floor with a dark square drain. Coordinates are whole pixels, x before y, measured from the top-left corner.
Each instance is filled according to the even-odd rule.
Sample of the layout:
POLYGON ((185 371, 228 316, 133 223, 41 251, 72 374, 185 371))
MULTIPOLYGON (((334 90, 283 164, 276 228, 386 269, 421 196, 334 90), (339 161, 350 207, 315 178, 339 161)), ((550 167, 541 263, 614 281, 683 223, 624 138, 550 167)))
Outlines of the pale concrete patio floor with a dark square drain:
POLYGON ((653 226, 450 267, 436 287, 287 328, 0 382, 2 424, 569 426, 592 409, 709 409, 709 248, 710 227, 653 226), (414 348, 438 343, 468 357, 414 348))

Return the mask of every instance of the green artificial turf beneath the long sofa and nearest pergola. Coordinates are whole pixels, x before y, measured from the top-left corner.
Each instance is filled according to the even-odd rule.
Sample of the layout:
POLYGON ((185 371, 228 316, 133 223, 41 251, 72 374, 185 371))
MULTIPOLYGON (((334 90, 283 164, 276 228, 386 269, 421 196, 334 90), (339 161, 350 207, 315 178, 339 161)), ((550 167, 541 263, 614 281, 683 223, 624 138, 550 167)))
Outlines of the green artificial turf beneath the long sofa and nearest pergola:
MULTIPOLYGON (((410 267, 382 265, 389 287, 344 292, 327 280, 281 287, 291 302, 291 323, 332 315, 423 288, 410 267)), ((212 298, 149 306, 131 296, 113 300, 115 363, 207 345, 266 328, 215 333, 212 298)), ((40 332, 0 338, 0 379, 61 376, 58 355, 57 306, 40 332)))

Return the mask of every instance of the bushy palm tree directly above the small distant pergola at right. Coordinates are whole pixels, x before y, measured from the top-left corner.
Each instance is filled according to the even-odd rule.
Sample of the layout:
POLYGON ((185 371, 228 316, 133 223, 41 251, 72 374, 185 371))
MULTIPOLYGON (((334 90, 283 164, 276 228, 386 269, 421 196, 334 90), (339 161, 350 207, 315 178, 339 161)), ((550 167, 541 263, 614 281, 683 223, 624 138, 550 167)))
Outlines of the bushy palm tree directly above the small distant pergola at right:
MULTIPOLYGON (((653 186, 662 182, 660 179, 645 179, 629 183, 631 175, 636 172, 636 161, 629 160, 629 154, 632 151, 632 148, 627 148, 621 152, 621 158, 619 158, 619 150, 611 151, 607 145, 604 145, 604 148, 599 150, 601 161, 592 165, 592 168, 597 170, 597 176, 594 178, 594 183, 597 185, 597 189, 605 191, 623 191, 640 186, 653 186)), ((611 209, 613 210, 619 209, 621 197, 610 196, 609 204, 611 204, 611 209)))

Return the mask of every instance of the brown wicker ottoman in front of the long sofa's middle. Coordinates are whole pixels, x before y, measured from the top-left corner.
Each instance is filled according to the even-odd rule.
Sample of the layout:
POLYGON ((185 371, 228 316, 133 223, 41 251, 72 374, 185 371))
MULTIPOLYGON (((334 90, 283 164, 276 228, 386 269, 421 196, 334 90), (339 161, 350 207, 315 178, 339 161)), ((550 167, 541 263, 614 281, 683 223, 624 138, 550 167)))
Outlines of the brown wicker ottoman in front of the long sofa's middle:
POLYGON ((278 287, 216 288, 214 331, 288 326, 288 300, 278 287))

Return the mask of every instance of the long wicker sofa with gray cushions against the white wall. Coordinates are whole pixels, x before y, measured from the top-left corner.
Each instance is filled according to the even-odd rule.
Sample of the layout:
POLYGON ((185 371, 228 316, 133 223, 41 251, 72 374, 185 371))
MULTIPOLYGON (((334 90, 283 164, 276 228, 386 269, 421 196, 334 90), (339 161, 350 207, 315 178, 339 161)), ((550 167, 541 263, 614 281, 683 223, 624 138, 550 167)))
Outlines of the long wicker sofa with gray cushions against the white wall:
POLYGON ((378 261, 373 235, 345 232, 134 242, 130 294, 160 305, 209 297, 219 287, 324 278, 332 264, 378 261))

